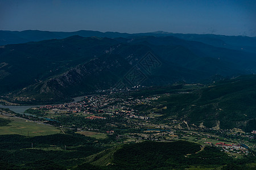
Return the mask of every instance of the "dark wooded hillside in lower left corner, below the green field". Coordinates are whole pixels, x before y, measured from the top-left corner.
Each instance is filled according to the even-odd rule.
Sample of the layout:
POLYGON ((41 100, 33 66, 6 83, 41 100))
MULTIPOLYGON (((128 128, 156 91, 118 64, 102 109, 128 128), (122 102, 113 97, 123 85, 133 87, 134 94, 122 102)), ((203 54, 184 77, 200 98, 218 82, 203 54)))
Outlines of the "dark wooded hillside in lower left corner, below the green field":
POLYGON ((86 156, 106 149, 94 143, 94 138, 76 134, 0 135, 0 138, 1 169, 70 169, 83 163, 86 156))

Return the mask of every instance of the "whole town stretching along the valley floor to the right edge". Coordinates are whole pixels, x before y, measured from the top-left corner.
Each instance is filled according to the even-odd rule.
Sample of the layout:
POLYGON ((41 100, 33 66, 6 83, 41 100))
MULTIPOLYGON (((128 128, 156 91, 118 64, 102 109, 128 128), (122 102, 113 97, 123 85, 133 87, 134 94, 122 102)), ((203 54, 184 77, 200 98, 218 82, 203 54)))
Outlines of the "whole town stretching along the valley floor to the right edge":
POLYGON ((233 156, 248 155, 250 150, 255 150, 255 145, 250 143, 250 140, 255 139, 255 131, 243 133, 237 129, 196 128, 181 120, 170 120, 168 124, 164 124, 158 122, 158 117, 161 116, 159 113, 138 111, 138 106, 148 107, 159 97, 160 95, 126 98, 113 94, 90 95, 75 103, 31 108, 26 114, 19 116, 52 124, 61 130, 72 129, 80 134, 94 131, 114 135, 122 143, 186 140, 202 146, 220 147, 221 151, 233 156))

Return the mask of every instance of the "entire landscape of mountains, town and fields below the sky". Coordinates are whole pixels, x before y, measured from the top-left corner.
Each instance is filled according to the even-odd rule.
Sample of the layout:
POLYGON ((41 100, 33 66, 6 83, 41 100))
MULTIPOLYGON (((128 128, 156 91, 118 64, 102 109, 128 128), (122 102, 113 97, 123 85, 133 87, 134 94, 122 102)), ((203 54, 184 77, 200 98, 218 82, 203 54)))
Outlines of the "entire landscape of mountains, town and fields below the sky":
POLYGON ((1 33, 1 169, 255 169, 254 37, 1 33))

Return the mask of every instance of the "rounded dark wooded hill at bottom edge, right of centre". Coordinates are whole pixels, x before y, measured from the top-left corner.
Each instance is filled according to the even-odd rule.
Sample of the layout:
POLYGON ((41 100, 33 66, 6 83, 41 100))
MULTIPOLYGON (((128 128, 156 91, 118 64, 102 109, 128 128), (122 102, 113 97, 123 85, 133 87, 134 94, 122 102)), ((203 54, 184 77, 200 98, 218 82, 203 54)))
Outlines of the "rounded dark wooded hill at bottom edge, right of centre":
POLYGON ((241 165, 236 165, 237 160, 218 148, 200 147, 186 141, 131 143, 89 156, 86 163, 75 169, 225 169, 232 166, 242 169, 241 165))

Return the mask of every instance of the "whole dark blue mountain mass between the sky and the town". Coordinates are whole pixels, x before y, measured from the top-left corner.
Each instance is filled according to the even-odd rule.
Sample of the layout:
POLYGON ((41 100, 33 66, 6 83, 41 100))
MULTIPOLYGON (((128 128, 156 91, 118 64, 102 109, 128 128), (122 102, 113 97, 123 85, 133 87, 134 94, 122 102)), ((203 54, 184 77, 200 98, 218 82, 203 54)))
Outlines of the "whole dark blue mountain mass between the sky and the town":
POLYGON ((256 72, 255 37, 0 31, 0 44, 0 96, 15 103, 58 103, 110 87, 209 83, 256 72))

